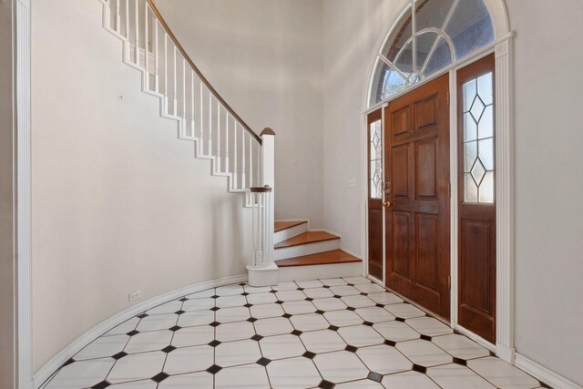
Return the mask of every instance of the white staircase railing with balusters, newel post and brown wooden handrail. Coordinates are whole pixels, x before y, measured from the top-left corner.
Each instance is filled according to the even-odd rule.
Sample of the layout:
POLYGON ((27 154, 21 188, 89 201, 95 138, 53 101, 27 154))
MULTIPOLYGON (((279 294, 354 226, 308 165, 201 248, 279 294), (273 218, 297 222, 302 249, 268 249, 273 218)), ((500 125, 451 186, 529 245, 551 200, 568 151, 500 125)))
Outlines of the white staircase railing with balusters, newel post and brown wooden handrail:
MULTIPOLYGON (((144 92, 160 98, 160 115, 178 121, 179 138, 194 142, 196 157, 210 159, 211 172, 229 179, 231 192, 245 192, 245 205, 261 202, 258 230, 265 256, 248 267, 253 286, 277 282, 273 261, 275 133, 258 136, 220 97, 180 45, 153 0, 98 0, 104 27, 123 42, 126 64, 142 73, 144 92), (269 201, 257 188, 270 187, 269 201), (251 193, 251 189, 253 192, 251 193), (260 199, 261 198, 261 199, 260 199)), ((253 255, 255 259, 255 255, 253 255)))

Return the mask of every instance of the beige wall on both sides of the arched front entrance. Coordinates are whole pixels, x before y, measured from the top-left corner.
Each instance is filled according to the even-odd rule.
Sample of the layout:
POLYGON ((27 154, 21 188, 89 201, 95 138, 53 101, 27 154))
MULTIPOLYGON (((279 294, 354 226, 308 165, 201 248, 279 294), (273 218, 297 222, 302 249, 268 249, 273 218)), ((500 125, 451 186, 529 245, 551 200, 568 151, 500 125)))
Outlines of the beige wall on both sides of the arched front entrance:
MULTIPOLYGON (((583 3, 508 0, 516 37, 517 351, 583 384, 583 3)), ((363 253, 361 141, 373 56, 402 0, 324 0, 324 226, 363 253), (359 183, 360 184, 360 183, 359 183)))

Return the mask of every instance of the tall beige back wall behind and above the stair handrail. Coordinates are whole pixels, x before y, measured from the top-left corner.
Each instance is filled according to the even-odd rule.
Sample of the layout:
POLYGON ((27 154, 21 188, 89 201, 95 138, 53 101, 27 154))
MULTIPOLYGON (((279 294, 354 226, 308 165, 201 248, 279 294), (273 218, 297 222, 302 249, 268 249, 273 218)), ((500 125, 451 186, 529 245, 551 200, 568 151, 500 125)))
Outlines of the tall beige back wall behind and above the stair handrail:
POLYGON ((276 218, 308 218, 322 227, 322 2, 157 3, 241 118, 256 131, 277 133, 276 218))

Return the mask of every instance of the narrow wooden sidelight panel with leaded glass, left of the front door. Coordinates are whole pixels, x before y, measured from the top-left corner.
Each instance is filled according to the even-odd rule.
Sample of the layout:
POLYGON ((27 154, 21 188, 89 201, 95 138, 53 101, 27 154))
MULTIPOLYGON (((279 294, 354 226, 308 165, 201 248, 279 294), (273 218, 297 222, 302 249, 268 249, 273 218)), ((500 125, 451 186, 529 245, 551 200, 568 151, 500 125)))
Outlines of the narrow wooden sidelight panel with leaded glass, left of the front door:
POLYGON ((383 110, 367 117, 368 273, 383 280, 383 110))

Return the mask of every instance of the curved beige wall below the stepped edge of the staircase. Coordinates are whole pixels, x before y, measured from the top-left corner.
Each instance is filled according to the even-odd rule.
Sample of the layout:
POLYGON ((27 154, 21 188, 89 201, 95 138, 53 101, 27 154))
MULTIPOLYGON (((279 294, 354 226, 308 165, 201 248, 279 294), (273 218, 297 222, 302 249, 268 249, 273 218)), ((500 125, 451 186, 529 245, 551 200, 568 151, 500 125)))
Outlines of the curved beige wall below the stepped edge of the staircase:
POLYGON ((128 292, 143 301, 243 274, 251 210, 210 176, 209 160, 194 159, 176 122, 159 118, 97 1, 36 1, 32 17, 38 371, 128 308, 128 292))

